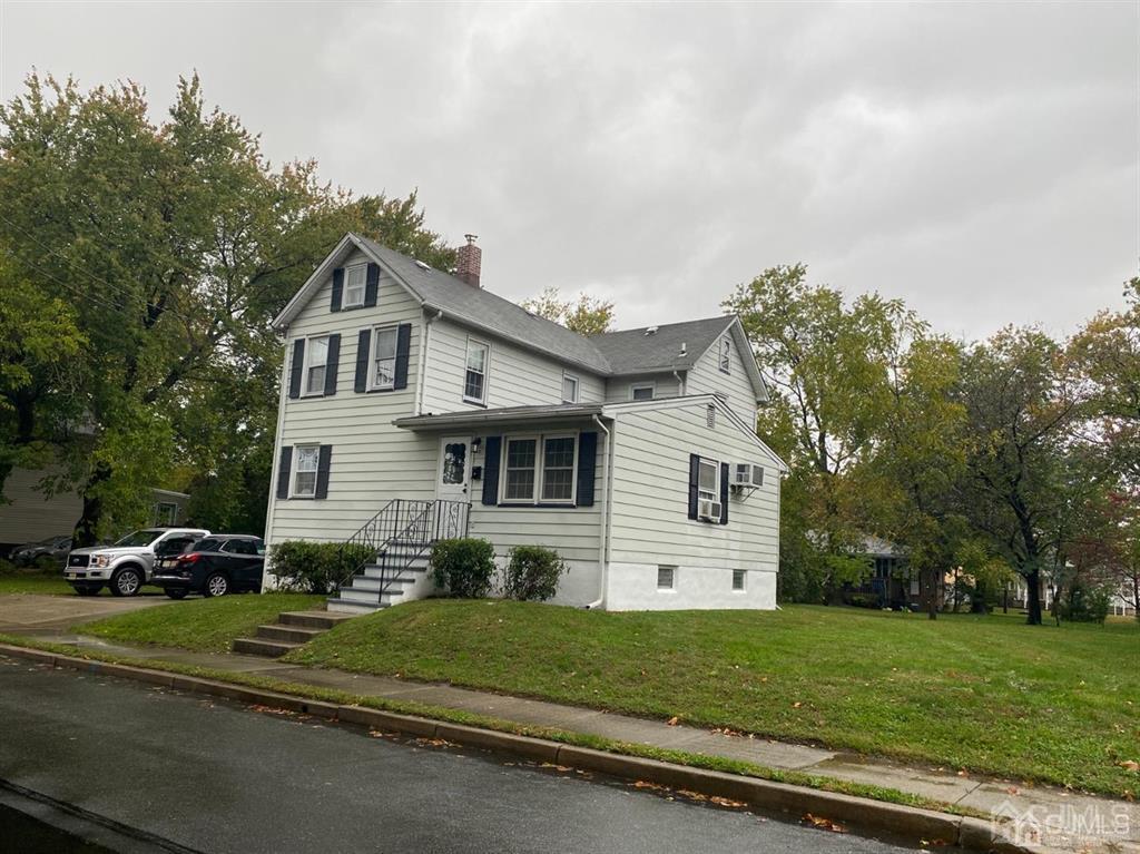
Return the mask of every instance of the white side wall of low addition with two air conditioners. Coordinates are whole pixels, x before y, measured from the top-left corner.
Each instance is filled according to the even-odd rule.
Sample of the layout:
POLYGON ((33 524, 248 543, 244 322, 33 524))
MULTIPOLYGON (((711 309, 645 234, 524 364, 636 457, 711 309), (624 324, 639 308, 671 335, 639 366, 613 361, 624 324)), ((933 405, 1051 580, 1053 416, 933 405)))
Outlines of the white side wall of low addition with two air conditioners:
POLYGON ((609 535, 608 610, 774 608, 779 564, 780 474, 775 463, 718 410, 707 426, 702 401, 620 413, 616 422, 609 535), (689 457, 760 463, 764 487, 730 491, 728 523, 687 518, 689 457), (675 566, 676 588, 657 588, 659 566, 675 566), (732 570, 747 570, 744 592, 732 570))

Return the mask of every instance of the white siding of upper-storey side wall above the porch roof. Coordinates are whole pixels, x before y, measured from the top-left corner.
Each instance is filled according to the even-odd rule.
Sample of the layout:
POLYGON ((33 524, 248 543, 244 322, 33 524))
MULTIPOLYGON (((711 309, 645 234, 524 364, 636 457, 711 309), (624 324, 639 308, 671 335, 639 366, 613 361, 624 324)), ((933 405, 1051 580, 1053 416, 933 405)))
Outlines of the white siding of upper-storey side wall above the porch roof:
POLYGON ((469 337, 490 345, 488 408, 556 404, 562 400, 563 372, 578 377, 578 402, 598 402, 605 395, 605 383, 596 374, 443 318, 431 325, 427 344, 431 368, 426 372, 423 412, 439 414, 480 408, 463 399, 469 337))

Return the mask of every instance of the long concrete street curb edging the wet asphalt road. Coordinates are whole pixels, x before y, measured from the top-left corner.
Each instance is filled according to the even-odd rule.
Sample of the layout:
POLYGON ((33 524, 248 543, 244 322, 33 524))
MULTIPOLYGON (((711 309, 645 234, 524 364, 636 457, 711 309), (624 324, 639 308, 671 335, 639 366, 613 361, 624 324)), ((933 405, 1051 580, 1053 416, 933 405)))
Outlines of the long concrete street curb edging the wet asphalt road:
POLYGON ((762 810, 787 813, 795 818, 812 813, 831 821, 849 823, 863 830, 886 831, 896 836, 909 836, 929 841, 939 840, 943 844, 958 845, 970 851, 997 852, 1000 854, 1039 854, 1043 851, 1036 846, 1025 846, 1007 839, 994 838, 992 824, 982 819, 858 798, 841 792, 811 789, 722 771, 675 765, 638 756, 624 756, 546 739, 464 726, 364 706, 340 706, 319 700, 307 700, 293 694, 230 682, 74 658, 26 646, 10 646, 0 643, 0 653, 48 667, 119 676, 189 693, 222 697, 252 706, 283 708, 384 732, 418 738, 437 738, 456 745, 511 753, 553 765, 594 771, 626 780, 652 782, 671 789, 697 792, 706 797, 727 798, 762 810))

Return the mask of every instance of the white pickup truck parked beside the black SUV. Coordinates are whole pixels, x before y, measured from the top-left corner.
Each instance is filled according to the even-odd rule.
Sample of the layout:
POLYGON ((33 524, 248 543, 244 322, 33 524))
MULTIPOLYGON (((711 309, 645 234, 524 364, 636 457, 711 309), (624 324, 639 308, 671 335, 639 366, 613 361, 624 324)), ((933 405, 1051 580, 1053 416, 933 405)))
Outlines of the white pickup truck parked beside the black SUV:
POLYGON ((145 528, 109 546, 74 548, 64 578, 81 596, 93 596, 104 585, 115 596, 136 596, 152 580, 157 558, 179 554, 209 534, 202 528, 145 528))

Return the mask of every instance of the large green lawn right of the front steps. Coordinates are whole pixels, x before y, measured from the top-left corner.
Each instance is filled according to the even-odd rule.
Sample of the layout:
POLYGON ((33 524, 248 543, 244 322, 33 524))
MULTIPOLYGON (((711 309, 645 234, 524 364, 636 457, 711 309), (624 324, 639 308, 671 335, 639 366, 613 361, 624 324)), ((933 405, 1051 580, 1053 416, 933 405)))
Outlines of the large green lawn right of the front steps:
POLYGON ((1032 628, 1012 616, 931 623, 806 605, 605 613, 429 600, 349 620, 286 660, 1140 791, 1122 764, 1140 761, 1134 621, 1032 628))

